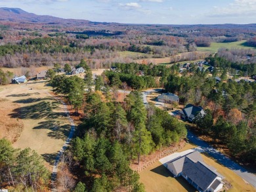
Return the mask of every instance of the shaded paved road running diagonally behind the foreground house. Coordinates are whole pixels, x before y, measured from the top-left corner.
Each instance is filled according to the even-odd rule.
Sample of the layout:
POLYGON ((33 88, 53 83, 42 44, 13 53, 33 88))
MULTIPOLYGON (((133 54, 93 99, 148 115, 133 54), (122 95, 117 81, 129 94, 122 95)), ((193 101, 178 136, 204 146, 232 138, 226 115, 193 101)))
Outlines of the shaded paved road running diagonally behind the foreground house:
POLYGON ((245 168, 243 168, 237 163, 234 163, 234 161, 232 161, 231 159, 229 159, 216 149, 213 149, 211 145, 200 140, 195 134, 193 134, 189 130, 187 138, 188 140, 190 140, 190 142, 198 145, 200 148, 202 148, 203 151, 205 151, 206 153, 211 155, 211 157, 219 161, 219 163, 233 170, 236 174, 241 176, 246 182, 251 183, 251 185, 253 185, 253 187, 256 188, 256 176, 254 174, 247 172, 245 168))

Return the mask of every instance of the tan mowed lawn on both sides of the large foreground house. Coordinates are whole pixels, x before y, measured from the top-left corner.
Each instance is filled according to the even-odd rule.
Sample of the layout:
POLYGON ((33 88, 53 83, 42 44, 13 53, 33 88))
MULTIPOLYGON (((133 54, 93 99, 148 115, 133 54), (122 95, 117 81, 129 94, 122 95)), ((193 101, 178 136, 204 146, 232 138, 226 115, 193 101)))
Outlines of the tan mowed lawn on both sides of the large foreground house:
MULTIPOLYGON (((192 149, 195 145, 187 144, 184 149, 192 149)), ((214 166, 217 171, 222 174, 228 182, 232 184, 232 188, 228 191, 256 191, 256 189, 244 182, 240 176, 232 172, 232 170, 217 163, 214 159, 211 159, 201 154, 206 164, 214 166)), ((139 173, 140 182, 144 183, 147 192, 167 192, 167 191, 196 191, 194 187, 189 185, 183 178, 173 178, 171 172, 165 168, 159 161, 152 164, 145 170, 139 173)))

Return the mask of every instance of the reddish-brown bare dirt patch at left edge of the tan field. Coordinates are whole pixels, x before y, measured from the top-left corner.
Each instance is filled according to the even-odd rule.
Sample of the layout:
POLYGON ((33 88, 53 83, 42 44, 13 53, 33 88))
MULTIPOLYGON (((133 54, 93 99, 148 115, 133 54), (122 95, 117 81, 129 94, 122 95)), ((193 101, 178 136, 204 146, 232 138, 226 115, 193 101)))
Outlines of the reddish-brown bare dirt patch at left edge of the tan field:
POLYGON ((0 98, 0 138, 7 138, 12 143, 18 140, 24 128, 20 119, 9 116, 12 109, 18 107, 18 104, 14 104, 6 98, 0 98))

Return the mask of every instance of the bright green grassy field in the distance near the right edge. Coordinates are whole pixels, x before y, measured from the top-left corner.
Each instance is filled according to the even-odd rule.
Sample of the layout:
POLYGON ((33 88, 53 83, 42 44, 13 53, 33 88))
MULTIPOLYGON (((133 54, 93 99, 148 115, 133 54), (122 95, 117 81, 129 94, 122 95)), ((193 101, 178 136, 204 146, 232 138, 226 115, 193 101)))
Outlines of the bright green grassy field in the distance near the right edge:
POLYGON ((211 47, 198 47, 198 50, 200 51, 211 51, 211 52, 217 52, 219 48, 253 48, 255 47, 247 47, 245 45, 246 41, 236 41, 232 43, 211 43, 211 47))

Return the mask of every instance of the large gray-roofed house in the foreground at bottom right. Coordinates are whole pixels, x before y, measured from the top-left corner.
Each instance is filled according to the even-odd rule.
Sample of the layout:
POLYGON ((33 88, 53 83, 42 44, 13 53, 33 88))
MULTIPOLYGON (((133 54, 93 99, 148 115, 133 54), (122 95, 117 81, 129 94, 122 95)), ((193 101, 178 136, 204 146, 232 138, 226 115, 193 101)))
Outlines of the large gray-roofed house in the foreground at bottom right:
POLYGON ((217 192, 223 189, 223 176, 215 168, 205 164, 198 151, 167 162, 167 169, 175 176, 182 176, 200 192, 217 192))

